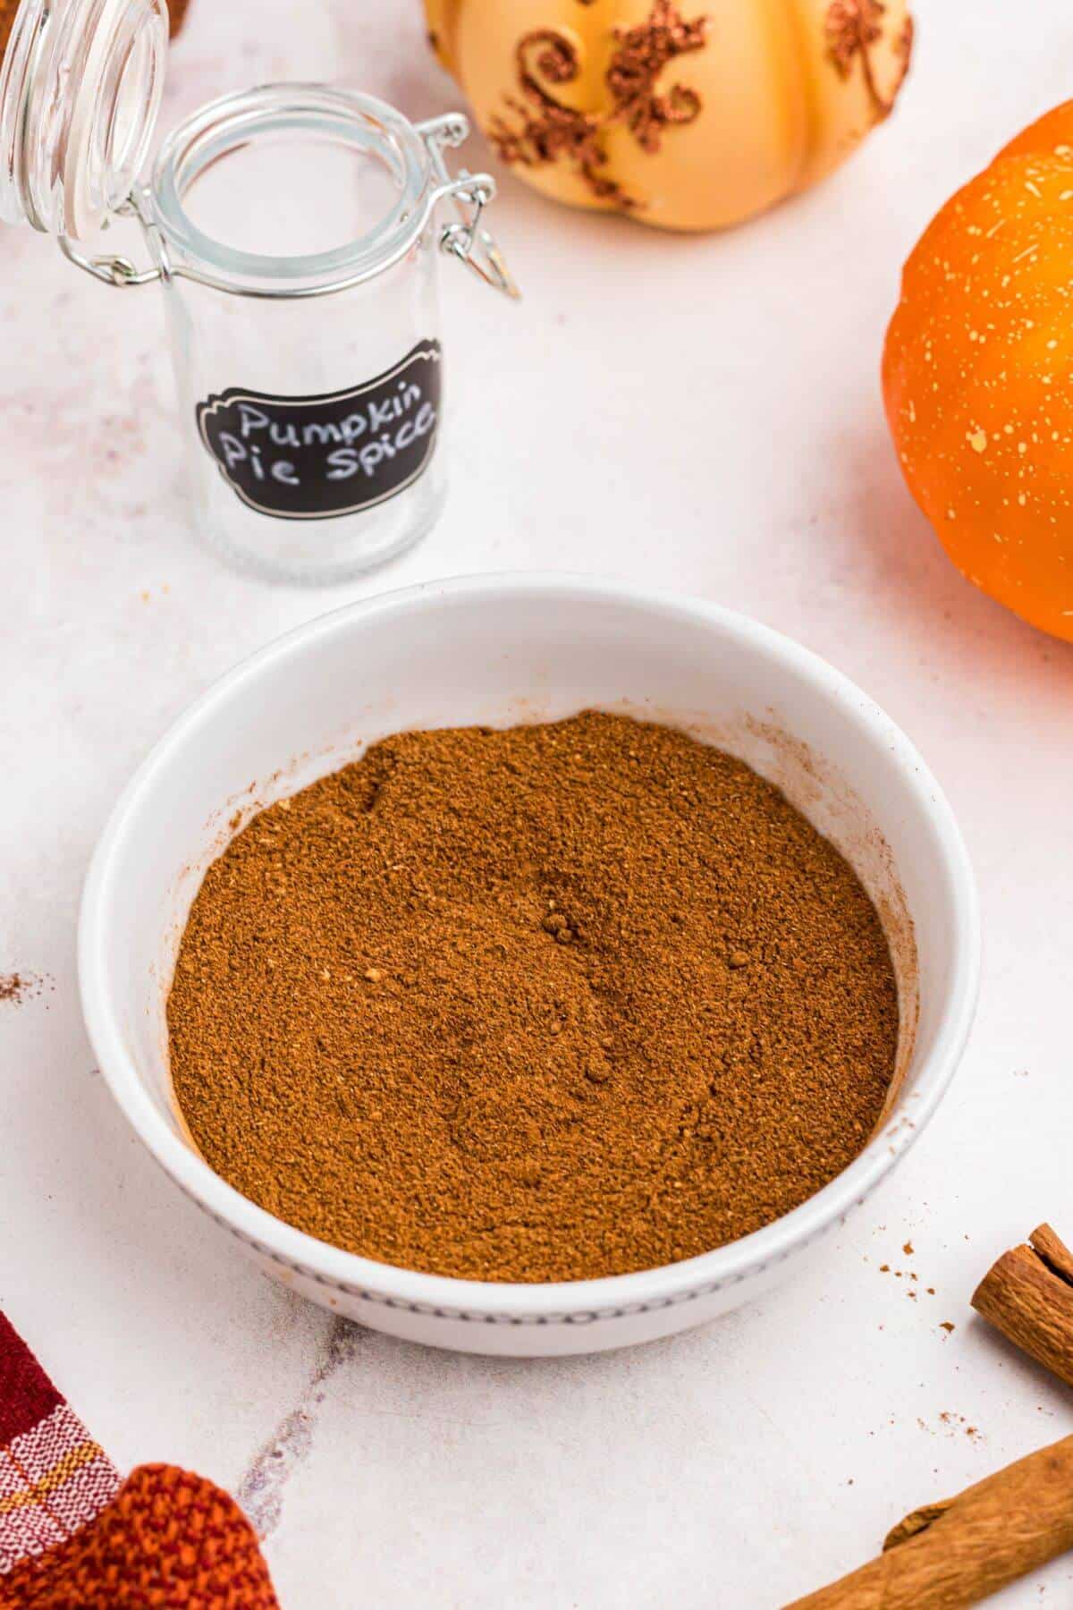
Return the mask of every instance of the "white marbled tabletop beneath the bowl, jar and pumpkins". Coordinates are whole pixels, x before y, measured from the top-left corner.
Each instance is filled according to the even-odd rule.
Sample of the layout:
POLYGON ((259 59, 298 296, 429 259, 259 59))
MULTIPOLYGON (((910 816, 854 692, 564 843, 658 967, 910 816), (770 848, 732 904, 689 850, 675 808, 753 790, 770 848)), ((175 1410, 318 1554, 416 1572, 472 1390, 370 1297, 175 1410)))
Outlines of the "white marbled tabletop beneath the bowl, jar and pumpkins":
MULTIPOLYGON (((191 541, 156 293, 0 238, 0 972, 47 980, 0 1003, 0 1302, 121 1465, 185 1462, 246 1496, 286 1610, 774 1610, 917 1502, 1073 1431, 1068 1393, 968 1312, 1001 1248, 1044 1216, 1073 1232, 1073 650, 948 565, 877 386, 902 256, 1068 92, 1073 19, 1063 0, 917 10, 891 124, 734 235, 666 238, 507 179, 495 222, 524 304, 444 266, 447 514, 331 592, 230 575, 191 541), (938 771, 986 924, 954 1090, 819 1262, 706 1330, 560 1364, 338 1330, 264 1282, 124 1127, 74 974, 109 805, 209 678, 381 586, 531 565, 684 588, 832 658, 938 771), (883 1262, 936 1294, 907 1301, 883 1262)), ((410 114, 458 100, 417 0, 195 0, 166 122, 283 76, 410 114)), ((1059 1563, 1001 1604, 1065 1605, 1071 1581, 1059 1563)))

